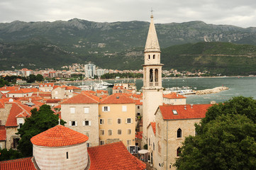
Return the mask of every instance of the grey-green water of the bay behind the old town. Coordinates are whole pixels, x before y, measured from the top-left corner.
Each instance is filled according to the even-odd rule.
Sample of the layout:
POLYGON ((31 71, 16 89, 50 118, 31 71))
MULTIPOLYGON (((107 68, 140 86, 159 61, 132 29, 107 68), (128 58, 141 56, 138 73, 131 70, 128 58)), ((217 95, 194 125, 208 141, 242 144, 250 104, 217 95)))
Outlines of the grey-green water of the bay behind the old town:
MULTIPOLYGON (((122 81, 127 82, 128 80, 106 80, 109 83, 121 83, 122 81)), ((129 80, 134 82, 133 79, 129 80)), ((89 85, 93 81, 86 81, 85 84, 89 85)), ((94 81, 95 82, 95 81, 94 81)), ((143 86, 142 79, 136 79, 136 87, 138 90, 143 86)), ((76 85, 76 84, 73 84, 76 85)), ((169 78, 162 80, 162 86, 164 88, 172 87, 184 87, 194 90, 213 89, 218 86, 227 86, 229 90, 221 91, 217 94, 205 94, 205 95, 187 95, 187 103, 203 104, 216 101, 220 103, 228 101, 233 96, 245 96, 256 98, 256 77, 210 77, 210 78, 169 78)), ((111 89, 108 88, 110 94, 111 89)))

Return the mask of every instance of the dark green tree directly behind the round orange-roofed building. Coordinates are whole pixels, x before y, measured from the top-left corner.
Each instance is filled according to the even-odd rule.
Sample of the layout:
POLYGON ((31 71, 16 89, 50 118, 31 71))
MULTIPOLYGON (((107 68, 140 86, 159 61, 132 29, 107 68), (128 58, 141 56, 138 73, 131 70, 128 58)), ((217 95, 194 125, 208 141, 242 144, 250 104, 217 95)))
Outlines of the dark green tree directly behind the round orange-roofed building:
MULTIPOLYGON (((30 157, 33 154, 33 145, 30 142, 31 137, 54 127, 59 120, 59 115, 55 115, 48 105, 41 106, 39 110, 33 108, 31 113, 30 118, 26 118, 25 123, 18 129, 17 133, 21 135, 18 149, 26 157, 30 157)), ((61 120, 60 124, 64 125, 65 121, 61 120)))

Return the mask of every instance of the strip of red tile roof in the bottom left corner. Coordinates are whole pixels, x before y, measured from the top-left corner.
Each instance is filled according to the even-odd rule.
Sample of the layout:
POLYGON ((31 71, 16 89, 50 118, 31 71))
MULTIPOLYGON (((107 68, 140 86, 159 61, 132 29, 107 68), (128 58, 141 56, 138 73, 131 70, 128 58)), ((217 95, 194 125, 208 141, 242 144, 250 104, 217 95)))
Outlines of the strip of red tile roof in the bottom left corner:
POLYGON ((1 170, 36 170, 32 162, 32 157, 13 159, 9 161, 0 162, 1 170))

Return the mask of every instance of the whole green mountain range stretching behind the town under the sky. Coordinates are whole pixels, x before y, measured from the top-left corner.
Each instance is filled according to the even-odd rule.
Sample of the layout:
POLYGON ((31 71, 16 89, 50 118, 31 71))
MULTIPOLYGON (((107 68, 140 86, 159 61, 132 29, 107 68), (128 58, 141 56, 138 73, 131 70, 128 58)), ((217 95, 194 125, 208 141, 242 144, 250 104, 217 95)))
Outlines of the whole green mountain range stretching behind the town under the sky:
MULTIPOLYGON (((57 69, 72 63, 93 62, 106 69, 141 69, 149 24, 96 23, 77 18, 0 23, 0 68, 57 69)), ((155 24, 155 28, 163 69, 207 69, 232 74, 232 67, 240 68, 246 63, 255 66, 256 28, 202 21, 155 24)), ((254 69, 235 71, 235 74, 253 74, 254 69)))

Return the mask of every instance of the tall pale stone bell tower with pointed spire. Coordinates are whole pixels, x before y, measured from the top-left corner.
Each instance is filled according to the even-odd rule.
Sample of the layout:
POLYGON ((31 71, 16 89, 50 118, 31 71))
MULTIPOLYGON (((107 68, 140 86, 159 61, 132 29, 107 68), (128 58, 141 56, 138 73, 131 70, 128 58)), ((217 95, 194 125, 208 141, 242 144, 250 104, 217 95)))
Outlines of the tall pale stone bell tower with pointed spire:
POLYGON ((160 45, 153 16, 151 15, 148 38, 144 50, 143 64, 143 143, 148 140, 147 128, 155 121, 155 111, 162 105, 162 65, 160 64, 160 45))

